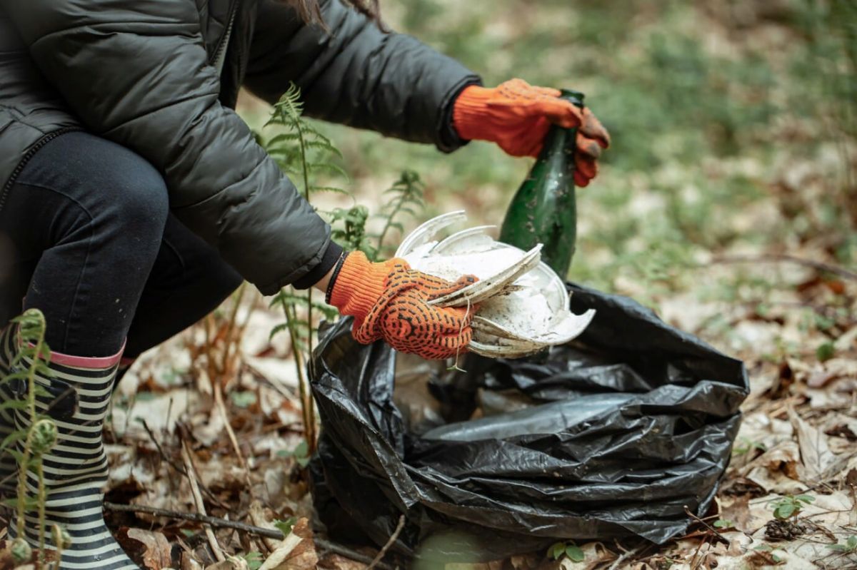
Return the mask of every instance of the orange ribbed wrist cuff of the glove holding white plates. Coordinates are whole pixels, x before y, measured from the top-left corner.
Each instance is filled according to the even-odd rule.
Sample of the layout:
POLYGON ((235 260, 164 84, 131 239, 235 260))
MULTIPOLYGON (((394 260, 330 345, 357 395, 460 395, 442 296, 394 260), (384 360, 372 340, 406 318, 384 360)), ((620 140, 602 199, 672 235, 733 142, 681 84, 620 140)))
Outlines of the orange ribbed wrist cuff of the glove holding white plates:
POLYGON ((404 259, 393 258, 374 264, 363 252, 349 253, 333 283, 330 304, 339 309, 339 314, 354 317, 355 326, 359 326, 384 293, 387 277, 395 264, 409 269, 404 259))

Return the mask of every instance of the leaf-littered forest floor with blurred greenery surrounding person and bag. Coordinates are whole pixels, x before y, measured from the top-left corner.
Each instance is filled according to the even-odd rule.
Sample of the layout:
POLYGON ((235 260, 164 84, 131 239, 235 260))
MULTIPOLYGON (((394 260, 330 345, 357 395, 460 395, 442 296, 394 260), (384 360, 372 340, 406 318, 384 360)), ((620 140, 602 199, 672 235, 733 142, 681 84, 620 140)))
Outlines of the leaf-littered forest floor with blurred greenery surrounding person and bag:
MULTIPOLYGON (((486 14, 481 3, 382 3, 393 27, 488 85, 523 76, 587 93, 614 145, 578 192, 570 279, 630 296, 743 359, 751 393, 716 508, 685 536, 578 543, 582 561, 537 552, 472 567, 857 568, 857 62, 843 56, 847 20, 830 7, 853 8, 532 4, 501 0, 486 14)), ((244 97, 240 111, 260 128, 269 109, 244 97)), ((369 211, 403 169, 422 175, 426 209, 410 228, 457 209, 472 225, 499 223, 530 164, 482 143, 442 156, 319 128, 369 211)), ((286 335, 269 337, 282 320, 246 288, 123 380, 107 501, 140 510, 110 507, 109 524, 141 567, 357 570, 377 554, 309 531, 297 371, 286 335), (213 536, 184 520, 202 510, 213 536), (224 526, 236 521, 245 526, 224 526)))

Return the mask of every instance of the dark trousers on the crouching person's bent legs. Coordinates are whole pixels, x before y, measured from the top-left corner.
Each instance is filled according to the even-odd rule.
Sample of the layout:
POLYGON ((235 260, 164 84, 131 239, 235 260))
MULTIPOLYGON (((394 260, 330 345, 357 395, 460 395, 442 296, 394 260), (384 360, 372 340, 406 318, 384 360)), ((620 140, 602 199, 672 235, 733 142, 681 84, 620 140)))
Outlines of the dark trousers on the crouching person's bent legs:
POLYGON ((242 281, 170 213, 151 164, 92 134, 48 142, 0 207, 0 329, 37 307, 60 353, 108 356, 127 337, 135 357, 242 281))

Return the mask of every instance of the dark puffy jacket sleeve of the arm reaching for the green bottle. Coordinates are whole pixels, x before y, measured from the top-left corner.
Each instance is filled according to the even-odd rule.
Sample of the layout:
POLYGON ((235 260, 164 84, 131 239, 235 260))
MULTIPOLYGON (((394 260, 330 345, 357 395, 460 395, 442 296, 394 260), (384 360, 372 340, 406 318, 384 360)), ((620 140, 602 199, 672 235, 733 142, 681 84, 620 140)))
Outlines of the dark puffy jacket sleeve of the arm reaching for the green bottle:
POLYGON ((384 33, 339 0, 321 2, 327 31, 261 0, 245 85, 269 103, 290 82, 309 116, 452 151, 452 101, 479 76, 417 39, 384 33))

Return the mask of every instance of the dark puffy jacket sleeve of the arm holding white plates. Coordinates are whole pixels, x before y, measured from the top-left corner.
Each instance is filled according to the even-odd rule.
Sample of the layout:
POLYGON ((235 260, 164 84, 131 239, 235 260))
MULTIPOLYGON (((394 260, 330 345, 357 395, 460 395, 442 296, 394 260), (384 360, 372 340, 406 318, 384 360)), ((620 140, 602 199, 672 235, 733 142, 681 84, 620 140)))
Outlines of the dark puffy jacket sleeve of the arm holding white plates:
POLYGON ((194 2, 27 0, 9 16, 85 126, 153 163, 177 217, 262 293, 331 257, 327 224, 219 104, 194 2))

